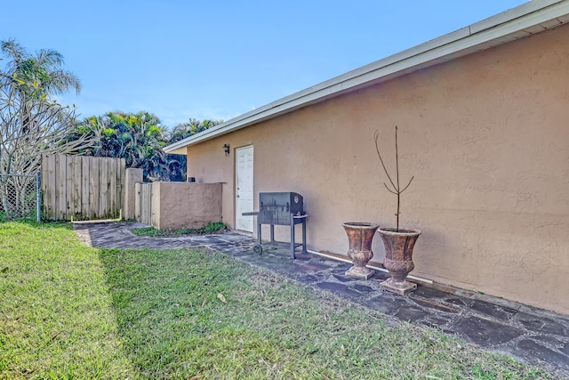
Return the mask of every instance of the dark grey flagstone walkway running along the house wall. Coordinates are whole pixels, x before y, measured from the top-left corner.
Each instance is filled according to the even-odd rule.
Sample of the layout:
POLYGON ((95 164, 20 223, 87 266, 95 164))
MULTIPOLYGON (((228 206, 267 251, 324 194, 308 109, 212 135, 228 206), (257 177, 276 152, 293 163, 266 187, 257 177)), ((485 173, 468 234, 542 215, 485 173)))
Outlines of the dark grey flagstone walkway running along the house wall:
POLYGON ((351 264, 318 255, 297 255, 293 260, 288 254, 288 245, 272 247, 256 255, 252 252, 253 239, 232 232, 142 238, 130 231, 140 227, 147 226, 132 222, 74 223, 79 238, 92 247, 209 247, 219 250, 351 302, 383 311, 394 317, 394 323, 406 320, 437 327, 485 350, 506 353, 533 364, 541 363, 558 376, 569 378, 569 316, 461 290, 445 292, 420 286, 411 295, 394 295, 379 288, 381 280, 387 278, 385 273, 376 271, 368 280, 347 278, 344 272, 351 264))

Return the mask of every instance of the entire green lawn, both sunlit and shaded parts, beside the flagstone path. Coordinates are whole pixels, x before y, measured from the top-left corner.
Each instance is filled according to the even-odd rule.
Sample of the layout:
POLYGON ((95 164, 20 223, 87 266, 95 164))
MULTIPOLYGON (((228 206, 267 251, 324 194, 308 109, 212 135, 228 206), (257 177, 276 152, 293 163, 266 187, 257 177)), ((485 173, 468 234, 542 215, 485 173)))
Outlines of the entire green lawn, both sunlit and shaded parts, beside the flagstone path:
POLYGON ((0 378, 554 378, 228 255, 66 225, 0 223, 0 295, 0 378))

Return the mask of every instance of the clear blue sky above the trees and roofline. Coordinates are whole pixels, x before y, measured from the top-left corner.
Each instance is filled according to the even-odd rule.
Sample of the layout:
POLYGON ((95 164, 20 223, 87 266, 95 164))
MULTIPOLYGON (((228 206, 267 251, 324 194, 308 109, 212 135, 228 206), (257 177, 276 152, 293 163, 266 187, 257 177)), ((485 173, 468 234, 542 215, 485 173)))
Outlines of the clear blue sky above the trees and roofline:
POLYGON ((97 0, 2 5, 0 39, 51 48, 81 117, 228 120, 525 0, 97 0), (25 6, 22 4, 26 4, 25 6))

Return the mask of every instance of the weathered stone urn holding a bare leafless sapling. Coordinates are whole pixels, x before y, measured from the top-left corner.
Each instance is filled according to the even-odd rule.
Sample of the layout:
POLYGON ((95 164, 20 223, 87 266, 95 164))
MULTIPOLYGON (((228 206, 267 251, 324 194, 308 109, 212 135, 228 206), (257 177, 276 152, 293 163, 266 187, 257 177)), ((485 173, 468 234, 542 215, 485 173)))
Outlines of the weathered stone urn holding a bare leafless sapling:
POLYGON ((385 247, 383 267, 389 271, 389 279, 381 282, 380 287, 389 292, 405 295, 417 288, 416 284, 406 280, 413 271, 413 247, 421 235, 420 230, 381 228, 380 236, 385 247))

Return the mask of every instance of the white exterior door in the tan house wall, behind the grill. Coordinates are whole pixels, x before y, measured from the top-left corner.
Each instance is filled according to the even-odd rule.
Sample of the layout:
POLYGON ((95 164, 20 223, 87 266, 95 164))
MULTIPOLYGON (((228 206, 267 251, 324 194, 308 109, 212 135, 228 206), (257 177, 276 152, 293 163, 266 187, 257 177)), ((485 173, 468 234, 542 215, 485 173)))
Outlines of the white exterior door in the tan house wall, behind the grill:
POLYGON ((252 212, 252 146, 236 150, 236 230, 252 232, 253 216, 243 216, 252 212))

